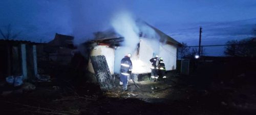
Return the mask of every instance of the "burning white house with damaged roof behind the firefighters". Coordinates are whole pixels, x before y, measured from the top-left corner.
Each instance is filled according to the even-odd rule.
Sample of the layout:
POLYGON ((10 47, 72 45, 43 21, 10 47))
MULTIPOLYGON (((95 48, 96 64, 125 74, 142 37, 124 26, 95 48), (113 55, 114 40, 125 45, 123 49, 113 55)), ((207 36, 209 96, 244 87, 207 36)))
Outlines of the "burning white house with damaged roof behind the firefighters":
MULTIPOLYGON (((119 74, 120 60, 127 53, 132 54, 134 74, 151 73, 151 62, 149 60, 155 55, 163 57, 166 71, 176 70, 177 47, 181 44, 155 27, 146 24, 146 22, 143 22, 143 26, 151 29, 155 35, 152 37, 152 35, 148 35, 148 32, 141 29, 137 34, 139 42, 132 42, 132 45, 135 45, 136 48, 128 48, 129 50, 126 51, 129 52, 120 50, 123 49, 125 41, 129 38, 121 36, 113 29, 95 33, 95 39, 90 41, 90 56, 104 55, 112 75, 119 74)), ((88 71, 94 73, 90 59, 88 71)))

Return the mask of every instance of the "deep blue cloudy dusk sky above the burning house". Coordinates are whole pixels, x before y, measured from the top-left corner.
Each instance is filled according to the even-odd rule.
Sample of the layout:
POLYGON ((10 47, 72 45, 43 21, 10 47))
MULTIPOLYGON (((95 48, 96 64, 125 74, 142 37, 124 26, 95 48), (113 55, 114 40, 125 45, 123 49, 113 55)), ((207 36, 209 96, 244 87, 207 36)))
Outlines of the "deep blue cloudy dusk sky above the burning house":
MULTIPOLYGON (((18 40, 35 42, 48 42, 55 33, 72 35, 76 43, 86 41, 93 38, 93 32, 109 29, 118 11, 130 12, 188 45, 198 45, 200 26, 202 45, 248 38, 256 28, 255 0, 1 0, 0 9, 2 30, 11 24, 14 33, 22 31, 18 40)), ((222 55, 221 49, 206 49, 206 54, 222 55)))

